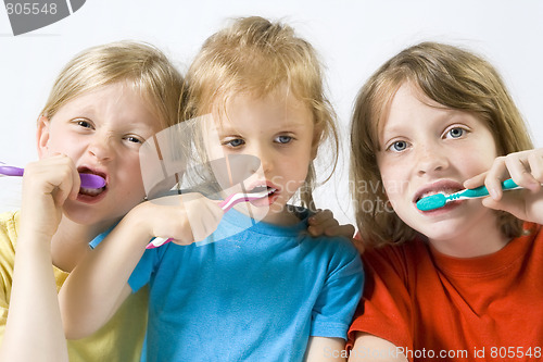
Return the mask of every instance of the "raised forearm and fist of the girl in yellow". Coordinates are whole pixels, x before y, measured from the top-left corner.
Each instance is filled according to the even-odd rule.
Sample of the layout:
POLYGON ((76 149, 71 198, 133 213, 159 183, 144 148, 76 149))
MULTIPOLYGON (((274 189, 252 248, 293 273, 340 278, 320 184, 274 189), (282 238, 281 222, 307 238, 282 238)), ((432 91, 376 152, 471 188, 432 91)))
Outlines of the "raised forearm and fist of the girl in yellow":
POLYGON ((77 197, 79 183, 73 162, 64 155, 29 164, 25 170, 13 287, 0 349, 2 361, 68 360, 51 239, 61 220, 62 204, 68 197, 77 197))

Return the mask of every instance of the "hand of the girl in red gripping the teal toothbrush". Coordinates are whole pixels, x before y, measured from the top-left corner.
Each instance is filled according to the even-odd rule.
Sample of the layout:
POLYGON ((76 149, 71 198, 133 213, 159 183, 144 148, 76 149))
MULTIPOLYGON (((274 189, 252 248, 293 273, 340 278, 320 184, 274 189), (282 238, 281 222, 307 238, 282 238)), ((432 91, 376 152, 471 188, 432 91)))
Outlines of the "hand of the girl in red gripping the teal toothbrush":
POLYGON ((487 208, 543 224, 543 149, 498 157, 488 172, 466 180, 464 186, 475 188, 482 184, 490 194, 482 200, 487 208), (526 190, 503 192, 501 183, 509 177, 526 190))

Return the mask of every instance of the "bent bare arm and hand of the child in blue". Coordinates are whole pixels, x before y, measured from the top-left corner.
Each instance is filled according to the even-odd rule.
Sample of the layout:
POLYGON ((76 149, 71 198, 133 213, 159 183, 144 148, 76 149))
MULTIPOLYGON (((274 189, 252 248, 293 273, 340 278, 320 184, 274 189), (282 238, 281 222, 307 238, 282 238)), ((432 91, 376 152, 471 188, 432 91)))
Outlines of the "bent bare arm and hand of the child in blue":
POLYGON ((215 228, 210 224, 216 227, 222 215, 214 201, 201 196, 168 197, 163 204, 134 208, 64 283, 59 298, 66 337, 86 337, 110 320, 130 295, 128 278, 152 237, 173 237, 174 242, 188 245, 194 235, 203 236, 201 224, 211 234, 215 228))

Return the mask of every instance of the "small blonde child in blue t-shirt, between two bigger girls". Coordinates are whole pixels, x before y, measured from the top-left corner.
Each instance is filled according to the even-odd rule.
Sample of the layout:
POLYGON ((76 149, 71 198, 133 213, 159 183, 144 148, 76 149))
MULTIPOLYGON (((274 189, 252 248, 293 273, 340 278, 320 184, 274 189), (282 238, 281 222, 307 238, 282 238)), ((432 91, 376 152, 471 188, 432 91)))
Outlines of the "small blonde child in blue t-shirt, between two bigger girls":
POLYGON ((305 232, 313 160, 325 139, 338 143, 313 47, 289 26, 240 18, 205 41, 187 79, 188 116, 205 129, 206 157, 258 158, 243 187, 269 195, 226 213, 204 197, 186 202, 185 215, 218 224, 195 244, 189 217, 173 208, 130 211, 66 280, 67 336, 100 327, 149 285, 141 361, 341 360, 363 269, 349 239, 305 232), (296 195, 305 208, 288 204, 296 195), (174 242, 140 260, 156 236, 174 242))

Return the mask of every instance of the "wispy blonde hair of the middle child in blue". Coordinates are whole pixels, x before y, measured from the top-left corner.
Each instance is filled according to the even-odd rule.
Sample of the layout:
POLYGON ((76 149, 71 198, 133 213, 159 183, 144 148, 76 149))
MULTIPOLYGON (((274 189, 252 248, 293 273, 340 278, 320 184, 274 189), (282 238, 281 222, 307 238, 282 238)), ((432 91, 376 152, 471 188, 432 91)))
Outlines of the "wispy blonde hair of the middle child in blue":
MULTIPOLYGON (((239 93, 265 97, 287 85, 313 113, 316 145, 332 142, 332 172, 338 159, 336 114, 325 96, 321 64, 315 49, 294 30, 263 17, 243 17, 211 36, 187 74, 189 84, 186 118, 211 113, 217 103, 225 108, 239 93)), ((329 178, 329 177, 328 177, 329 178)), ((314 165, 310 166, 300 198, 313 208, 314 165)))

